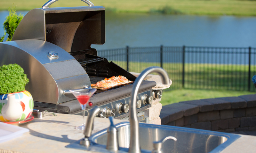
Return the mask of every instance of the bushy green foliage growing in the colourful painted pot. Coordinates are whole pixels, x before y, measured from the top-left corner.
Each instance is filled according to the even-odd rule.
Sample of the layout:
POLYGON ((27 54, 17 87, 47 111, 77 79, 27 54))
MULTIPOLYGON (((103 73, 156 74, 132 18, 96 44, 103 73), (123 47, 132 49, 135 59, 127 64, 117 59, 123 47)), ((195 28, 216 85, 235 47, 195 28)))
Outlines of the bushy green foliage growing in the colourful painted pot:
POLYGON ((25 91, 28 82, 20 65, 8 64, 0 67, 0 95, 25 91))

